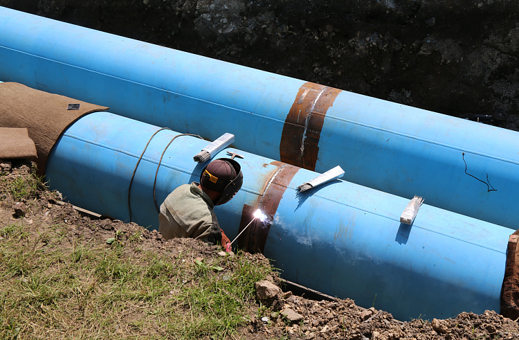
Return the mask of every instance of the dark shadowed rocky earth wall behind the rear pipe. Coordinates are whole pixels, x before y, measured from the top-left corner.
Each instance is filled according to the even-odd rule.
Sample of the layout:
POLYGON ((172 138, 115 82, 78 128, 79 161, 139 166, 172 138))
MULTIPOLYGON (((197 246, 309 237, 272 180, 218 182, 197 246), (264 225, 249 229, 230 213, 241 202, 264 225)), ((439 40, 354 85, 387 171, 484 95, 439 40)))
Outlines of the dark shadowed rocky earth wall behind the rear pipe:
POLYGON ((519 128, 515 0, 0 0, 1 6, 519 128))

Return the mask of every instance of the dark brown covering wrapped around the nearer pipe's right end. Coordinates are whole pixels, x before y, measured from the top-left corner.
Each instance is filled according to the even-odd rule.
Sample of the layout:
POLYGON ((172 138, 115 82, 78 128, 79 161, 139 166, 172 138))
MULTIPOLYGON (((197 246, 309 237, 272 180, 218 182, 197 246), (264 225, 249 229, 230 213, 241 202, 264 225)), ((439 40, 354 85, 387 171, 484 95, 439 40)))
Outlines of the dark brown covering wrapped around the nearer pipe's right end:
POLYGON ((519 231, 508 240, 507 267, 501 288, 501 315, 512 320, 519 318, 519 231))

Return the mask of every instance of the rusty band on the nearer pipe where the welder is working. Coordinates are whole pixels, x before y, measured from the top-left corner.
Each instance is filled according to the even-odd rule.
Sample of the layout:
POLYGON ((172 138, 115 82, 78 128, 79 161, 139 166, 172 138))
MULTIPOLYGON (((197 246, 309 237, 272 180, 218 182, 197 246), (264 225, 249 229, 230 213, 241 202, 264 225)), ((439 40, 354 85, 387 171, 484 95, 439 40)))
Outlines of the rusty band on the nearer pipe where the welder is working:
POLYGON ((270 217, 270 220, 265 222, 261 222, 258 219, 254 220, 254 222, 248 226, 247 230, 238 238, 238 247, 245 249, 249 253, 264 252, 268 231, 271 229, 273 223, 272 218, 277 211, 277 207, 280 205, 286 188, 300 169, 278 161, 274 161, 271 164, 276 165, 277 168, 273 172, 272 177, 266 181, 263 195, 258 197, 257 202, 255 202, 253 206, 244 204, 242 220, 239 222, 239 232, 241 232, 247 224, 253 220, 253 214, 258 208, 270 217))

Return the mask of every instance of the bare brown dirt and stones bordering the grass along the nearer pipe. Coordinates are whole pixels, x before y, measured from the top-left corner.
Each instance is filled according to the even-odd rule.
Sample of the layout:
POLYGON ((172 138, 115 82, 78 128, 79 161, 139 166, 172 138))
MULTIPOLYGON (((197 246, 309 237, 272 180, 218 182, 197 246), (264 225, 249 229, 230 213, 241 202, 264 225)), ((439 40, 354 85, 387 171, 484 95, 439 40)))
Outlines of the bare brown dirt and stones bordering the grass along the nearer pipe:
MULTIPOLYGON (((91 215, 78 213, 71 204, 60 204, 59 193, 49 192, 30 177, 31 170, 28 167, 30 164, 0 163, 2 163, 0 165, 0 267, 5 265, 2 262, 7 262, 2 255, 5 250, 2 242, 8 242, 10 236, 6 230, 12 228, 13 225, 24 226, 29 235, 28 238, 33 239, 34 247, 42 249, 44 253, 46 248, 51 247, 53 241, 48 236, 43 237, 42 235, 48 235, 48 231, 55 230, 56 225, 60 224, 64 226, 60 242, 68 244, 66 247, 69 248, 74 244, 78 247, 77 244, 81 244, 81 242, 97 242, 101 246, 104 244, 102 247, 109 248, 110 245, 107 242, 112 240, 120 242, 124 247, 122 258, 148 251, 152 251, 158 256, 165 256, 165 258, 171 257, 168 254, 185 253, 187 254, 185 258, 190 259, 186 263, 190 263, 194 259, 211 263, 221 257, 218 254, 221 251, 218 246, 208 247, 190 239, 165 241, 160 233, 147 231, 134 223, 95 219, 91 215), (22 179, 28 186, 18 185, 22 179), (21 188, 26 188, 26 191, 21 193, 21 188), (20 199, 20 202, 24 203, 27 208, 26 213, 19 216, 15 211, 15 204, 18 203, 17 195, 25 197, 20 199), (140 235, 138 242, 132 241, 135 240, 135 235, 140 235)), ((261 254, 244 253, 242 256, 255 267, 269 266, 268 260, 261 254)), ((174 260, 178 259, 173 256, 172 261, 174 260)), ((63 266, 64 261, 62 260, 61 263, 63 266)), ((233 272, 233 267, 225 270, 222 273, 227 276, 236 274, 233 272)), ((4 272, 4 275, 7 273, 4 272)), ((2 276, 1 271, 0 276, 2 276)), ((15 280, 16 276, 21 276, 21 280, 30 277, 27 273, 18 273, 12 280, 15 280)), ((170 280, 174 280, 174 277, 170 280)), ((266 280, 283 286, 276 274, 268 276, 266 280)), ((100 287, 102 286, 100 285, 100 287)), ((171 292, 166 291, 165 294, 177 294, 176 292, 176 289, 173 289, 171 292)), ((0 297, 8 298, 1 292, 0 297)), ((66 306, 74 303, 74 298, 69 299, 71 301, 64 301, 66 306)), ((246 301, 243 303, 246 304, 246 301)), ((95 308, 95 306, 92 307, 95 308)), ((189 308, 186 312, 189 313, 189 308)), ((132 313, 142 314, 137 310, 136 312, 126 312, 125 315, 129 319, 136 319, 137 316, 133 316, 132 313)), ((0 316, 2 316, 1 312, 0 316)), ((0 337, 2 335, 5 337, 10 328, 5 324, 7 322, 5 317, 0 317, 0 319, 2 319, 0 337)), ((402 322, 393 319, 388 312, 376 310, 375 307, 369 310, 358 307, 350 299, 331 298, 316 301, 296 296, 291 292, 286 292, 286 289, 284 292, 279 292, 270 301, 257 300, 248 305, 248 312, 242 319, 237 327, 237 332, 228 339, 519 339, 519 324, 493 311, 486 311, 482 315, 463 312, 455 319, 433 319, 432 321, 414 319, 402 322)), ((32 325, 30 327, 36 329, 37 322, 34 320, 32 322, 34 327, 32 325)), ((149 339, 149 333, 140 333, 135 328, 133 331, 127 330, 124 324, 124 320, 120 321, 120 326, 113 328, 113 334, 109 332, 107 337, 95 337, 95 339, 112 339, 112 336, 115 337, 114 339, 149 339)), ((53 339, 75 338, 78 336, 76 333, 78 329, 81 329, 81 325, 71 326, 69 330, 63 325, 61 328, 63 328, 61 330, 63 333, 56 333, 53 339)), ((93 328, 89 332, 94 334, 98 330, 93 328)), ((141 330, 141 332, 144 331, 141 330)), ((161 330, 155 330, 152 334, 157 337, 156 339, 178 339, 175 333, 161 332, 161 330)), ((214 338, 219 337, 216 336, 212 339, 214 338)), ((18 337, 6 337, 5 339, 33 339, 33 337, 30 336, 30 332, 26 334, 20 331, 18 337)), ((210 338, 204 337, 204 339, 210 338)))

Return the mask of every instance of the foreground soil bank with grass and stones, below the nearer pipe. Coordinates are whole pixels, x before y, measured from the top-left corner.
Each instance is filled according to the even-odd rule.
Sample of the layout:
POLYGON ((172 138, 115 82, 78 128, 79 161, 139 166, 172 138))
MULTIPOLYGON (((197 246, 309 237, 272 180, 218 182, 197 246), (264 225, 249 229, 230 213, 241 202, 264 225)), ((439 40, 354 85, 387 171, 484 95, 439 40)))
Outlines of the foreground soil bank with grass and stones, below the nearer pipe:
MULTIPOLYGON (((35 334, 39 339, 79 339, 84 332, 92 336, 89 339, 186 339, 180 329, 197 312, 186 302, 190 298, 183 295, 184 289, 190 294, 213 289, 199 279, 201 273, 215 269, 210 276, 225 290, 226 280, 242 282, 239 276, 247 274, 240 271, 243 268, 264 268, 268 276, 258 280, 284 287, 276 272, 268 274, 270 265, 261 254, 222 257, 218 246, 191 239, 166 241, 134 223, 81 213, 60 203, 61 194, 46 189, 29 166, 24 161, 0 161, 2 339, 35 334), (125 276, 140 265, 147 285, 133 292, 136 279, 125 276), (125 266, 131 269, 128 273, 125 266), (161 274, 166 275, 164 282, 161 274), (73 282, 71 287, 65 285, 57 293, 67 280, 73 282), (154 282, 164 286, 152 294, 154 282), (127 290, 129 296, 122 294, 127 290), (151 301, 149 295, 154 297, 151 301), (119 307, 112 314, 107 305, 119 307)), ((519 324, 493 311, 398 321, 377 310, 376 299, 365 309, 349 298, 316 300, 286 292, 286 287, 284 292, 275 286, 272 290, 270 300, 255 301, 225 291, 225 298, 237 301, 242 312, 235 332, 194 339, 519 339, 519 324)), ((215 308, 214 303, 209 301, 206 309, 215 308)))

